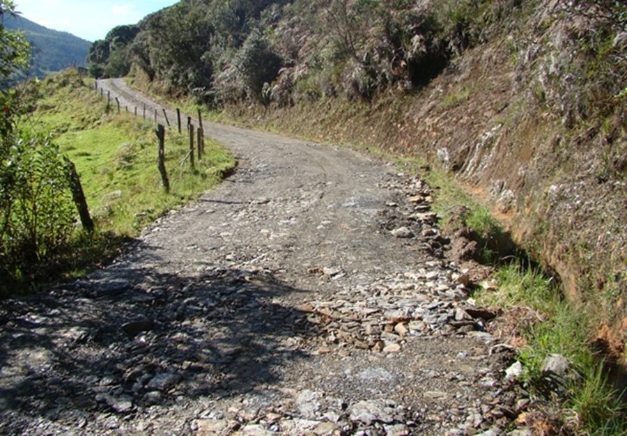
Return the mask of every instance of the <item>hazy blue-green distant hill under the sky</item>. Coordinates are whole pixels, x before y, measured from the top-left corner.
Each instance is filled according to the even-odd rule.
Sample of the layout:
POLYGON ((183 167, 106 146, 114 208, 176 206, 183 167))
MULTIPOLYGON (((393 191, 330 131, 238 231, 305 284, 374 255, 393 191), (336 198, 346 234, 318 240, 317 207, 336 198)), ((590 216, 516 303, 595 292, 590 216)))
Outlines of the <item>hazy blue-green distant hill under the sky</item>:
POLYGON ((61 71, 72 65, 84 66, 91 42, 67 32, 47 29, 24 17, 4 17, 6 29, 24 31, 33 46, 30 77, 61 71))

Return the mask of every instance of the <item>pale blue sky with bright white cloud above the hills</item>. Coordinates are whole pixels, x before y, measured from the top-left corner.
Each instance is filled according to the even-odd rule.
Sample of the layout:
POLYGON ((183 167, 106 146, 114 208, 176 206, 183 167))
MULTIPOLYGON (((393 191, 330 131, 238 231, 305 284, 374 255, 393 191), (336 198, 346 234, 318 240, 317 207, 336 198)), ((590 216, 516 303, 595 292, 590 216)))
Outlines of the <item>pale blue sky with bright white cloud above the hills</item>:
POLYGON ((49 29, 94 41, 111 28, 135 24, 177 0, 15 0, 18 12, 49 29))

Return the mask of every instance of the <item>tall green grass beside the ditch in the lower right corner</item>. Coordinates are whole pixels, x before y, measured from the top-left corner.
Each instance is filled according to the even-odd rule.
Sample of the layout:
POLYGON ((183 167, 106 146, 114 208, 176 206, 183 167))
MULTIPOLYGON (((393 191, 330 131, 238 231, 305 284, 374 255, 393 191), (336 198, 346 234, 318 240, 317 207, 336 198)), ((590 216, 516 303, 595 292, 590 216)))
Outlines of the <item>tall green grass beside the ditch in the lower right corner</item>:
POLYGON ((499 289, 479 290, 474 295, 478 304, 504 309, 527 306, 544 318, 523 332, 527 345, 518 350, 527 388, 543 399, 544 359, 550 354, 564 355, 580 376, 562 405, 564 426, 577 434, 624 435, 627 408, 608 384, 605 363, 592 348, 590 332, 595 320, 590 311, 563 299, 557 283, 539 269, 512 263, 500 267, 495 278, 499 289))

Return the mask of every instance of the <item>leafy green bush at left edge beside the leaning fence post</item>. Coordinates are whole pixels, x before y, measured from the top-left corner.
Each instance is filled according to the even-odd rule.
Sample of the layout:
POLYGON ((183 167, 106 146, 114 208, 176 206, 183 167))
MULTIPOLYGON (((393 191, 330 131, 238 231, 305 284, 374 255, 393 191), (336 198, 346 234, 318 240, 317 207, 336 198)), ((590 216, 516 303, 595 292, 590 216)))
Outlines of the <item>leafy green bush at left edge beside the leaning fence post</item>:
POLYGON ((68 241, 75 210, 67 165, 50 137, 20 128, 5 138, 1 154, 0 279, 6 285, 68 241))

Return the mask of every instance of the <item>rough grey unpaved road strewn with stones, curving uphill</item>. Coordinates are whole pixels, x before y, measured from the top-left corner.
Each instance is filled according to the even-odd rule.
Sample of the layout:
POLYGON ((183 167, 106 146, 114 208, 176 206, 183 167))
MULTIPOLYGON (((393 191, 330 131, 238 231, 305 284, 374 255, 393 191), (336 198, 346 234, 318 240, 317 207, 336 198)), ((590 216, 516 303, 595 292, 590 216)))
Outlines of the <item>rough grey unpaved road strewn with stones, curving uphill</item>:
POLYGON ((109 267, 0 303, 0 433, 499 433, 506 356, 463 310, 428 187, 344 148, 203 127, 233 176, 109 267))

